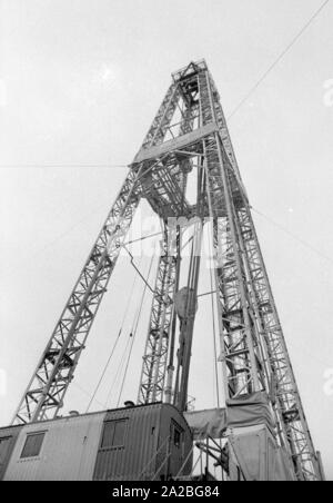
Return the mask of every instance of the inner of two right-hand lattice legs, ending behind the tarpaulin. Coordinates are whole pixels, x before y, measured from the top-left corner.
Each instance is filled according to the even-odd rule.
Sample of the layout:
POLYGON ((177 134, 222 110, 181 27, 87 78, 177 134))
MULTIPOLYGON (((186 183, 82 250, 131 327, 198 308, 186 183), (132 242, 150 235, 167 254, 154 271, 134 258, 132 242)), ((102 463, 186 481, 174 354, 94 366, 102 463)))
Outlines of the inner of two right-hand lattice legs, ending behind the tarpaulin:
POLYGON ((238 223, 218 135, 205 141, 208 197, 214 219, 214 256, 225 395, 236 398, 265 389, 259 336, 239 248, 238 223))

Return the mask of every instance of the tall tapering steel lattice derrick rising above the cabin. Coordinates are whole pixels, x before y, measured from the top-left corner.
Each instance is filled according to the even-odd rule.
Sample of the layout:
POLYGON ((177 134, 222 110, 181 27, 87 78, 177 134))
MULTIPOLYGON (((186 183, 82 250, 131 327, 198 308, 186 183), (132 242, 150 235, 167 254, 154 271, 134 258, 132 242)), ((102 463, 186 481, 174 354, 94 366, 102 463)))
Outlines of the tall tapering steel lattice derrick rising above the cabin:
POLYGON ((138 402, 173 402, 185 410, 203 228, 212 225, 214 283, 226 398, 266 392, 276 438, 299 480, 320 469, 250 204, 219 92, 205 61, 172 75, 172 82, 98 236, 17 411, 14 423, 52 418, 63 405, 80 355, 141 198, 163 225, 138 402), (196 204, 185 197, 198 174, 196 204), (180 224, 180 219, 182 224, 180 224), (176 351, 176 297, 188 221, 192 255, 176 351))

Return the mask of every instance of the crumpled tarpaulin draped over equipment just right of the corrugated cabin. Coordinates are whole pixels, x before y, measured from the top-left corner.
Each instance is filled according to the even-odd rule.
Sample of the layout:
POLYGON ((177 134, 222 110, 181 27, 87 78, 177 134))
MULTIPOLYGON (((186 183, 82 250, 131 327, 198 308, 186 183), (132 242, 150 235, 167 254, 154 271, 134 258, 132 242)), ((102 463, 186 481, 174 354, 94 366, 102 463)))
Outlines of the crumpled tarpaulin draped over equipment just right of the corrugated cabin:
POLYGON ((228 427, 249 427, 265 424, 274 428, 268 396, 254 393, 226 402, 226 408, 188 412, 185 420, 194 438, 221 438, 228 427))

